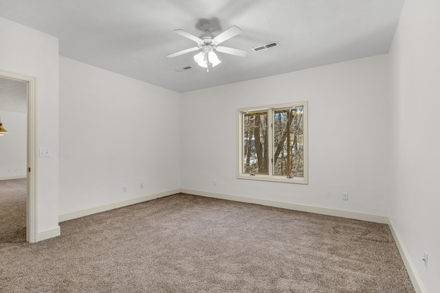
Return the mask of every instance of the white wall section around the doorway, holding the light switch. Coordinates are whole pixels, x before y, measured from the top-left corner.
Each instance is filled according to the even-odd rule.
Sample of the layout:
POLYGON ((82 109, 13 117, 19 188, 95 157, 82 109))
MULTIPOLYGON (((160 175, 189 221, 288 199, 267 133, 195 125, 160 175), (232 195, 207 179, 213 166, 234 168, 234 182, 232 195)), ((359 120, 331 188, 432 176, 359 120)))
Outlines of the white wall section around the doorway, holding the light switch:
POLYGON ((1 70, 37 79, 38 146, 52 151, 38 161, 38 232, 58 231, 58 39, 0 18, 0 43, 1 70))

